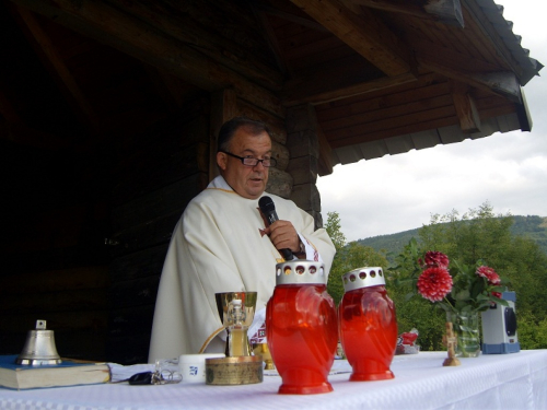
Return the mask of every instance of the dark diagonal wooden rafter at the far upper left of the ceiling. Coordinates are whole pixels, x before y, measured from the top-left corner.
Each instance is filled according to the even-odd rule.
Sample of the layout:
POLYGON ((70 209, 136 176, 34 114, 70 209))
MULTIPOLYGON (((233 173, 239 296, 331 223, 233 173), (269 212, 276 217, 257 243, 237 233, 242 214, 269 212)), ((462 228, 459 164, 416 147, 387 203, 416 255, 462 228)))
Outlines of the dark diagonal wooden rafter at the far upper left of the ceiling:
POLYGON ((77 113, 80 113, 80 115, 85 118, 88 125, 91 126, 95 132, 100 132, 101 125, 96 113, 78 85, 70 70, 67 68, 55 44, 51 42, 47 33, 42 28, 39 21, 33 13, 24 8, 18 7, 16 11, 28 28, 28 32, 32 34, 34 40, 40 48, 40 51, 46 58, 48 66, 55 71, 61 84, 63 85, 63 90, 71 96, 70 99, 73 102, 73 107, 75 103, 77 113))

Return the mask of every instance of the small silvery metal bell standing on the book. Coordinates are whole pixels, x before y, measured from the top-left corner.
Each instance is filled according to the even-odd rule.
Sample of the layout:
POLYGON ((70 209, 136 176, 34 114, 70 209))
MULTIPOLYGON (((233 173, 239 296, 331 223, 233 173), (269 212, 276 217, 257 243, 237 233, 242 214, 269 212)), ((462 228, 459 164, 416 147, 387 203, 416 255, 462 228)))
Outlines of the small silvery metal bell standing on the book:
POLYGON ((59 364, 61 362, 55 347, 54 331, 46 330, 46 320, 36 320, 36 330, 28 330, 25 345, 15 363, 42 365, 59 364))

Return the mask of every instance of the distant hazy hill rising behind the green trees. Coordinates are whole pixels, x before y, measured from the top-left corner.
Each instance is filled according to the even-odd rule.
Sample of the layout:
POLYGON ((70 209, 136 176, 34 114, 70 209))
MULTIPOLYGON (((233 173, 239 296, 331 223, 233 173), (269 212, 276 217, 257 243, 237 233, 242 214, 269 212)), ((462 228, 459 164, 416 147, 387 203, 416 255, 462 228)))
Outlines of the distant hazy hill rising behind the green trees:
MULTIPOLYGON (((512 235, 528 237, 534 241, 539 248, 547 254, 547 218, 537 215, 519 216, 513 215, 514 223, 511 226, 512 235)), ((391 235, 372 236, 357 241, 363 246, 370 246, 376 250, 385 250, 387 260, 393 262, 393 257, 400 254, 403 247, 412 237, 418 237, 418 227, 391 235)))

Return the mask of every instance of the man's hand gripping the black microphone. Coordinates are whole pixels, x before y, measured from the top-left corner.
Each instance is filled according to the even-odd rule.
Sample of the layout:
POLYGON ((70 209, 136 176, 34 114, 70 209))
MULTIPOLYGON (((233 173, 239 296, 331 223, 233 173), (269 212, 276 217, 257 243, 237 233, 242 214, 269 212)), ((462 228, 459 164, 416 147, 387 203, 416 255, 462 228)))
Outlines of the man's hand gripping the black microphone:
POLYGON ((267 233, 274 246, 279 249, 286 260, 295 259, 291 248, 299 248, 300 238, 292 223, 279 220, 270 197, 261 197, 258 200, 258 207, 270 225, 267 227, 267 233))

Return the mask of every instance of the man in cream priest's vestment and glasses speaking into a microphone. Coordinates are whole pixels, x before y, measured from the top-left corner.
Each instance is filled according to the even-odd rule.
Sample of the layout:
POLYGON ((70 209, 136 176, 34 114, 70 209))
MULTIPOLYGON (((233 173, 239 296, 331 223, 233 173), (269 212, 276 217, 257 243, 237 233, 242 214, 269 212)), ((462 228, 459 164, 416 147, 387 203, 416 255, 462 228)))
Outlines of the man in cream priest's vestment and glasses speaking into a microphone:
MULTIPOLYGON (((259 211, 271 157, 271 139, 259 121, 236 117, 219 133, 220 176, 187 206, 175 227, 163 266, 149 361, 183 353, 223 352, 223 327, 214 293, 257 292, 257 313, 276 285, 280 249, 319 260, 326 271, 335 255, 325 230, 292 201, 267 194, 279 220, 259 211)), ((224 336, 225 338, 225 336, 224 336)))

